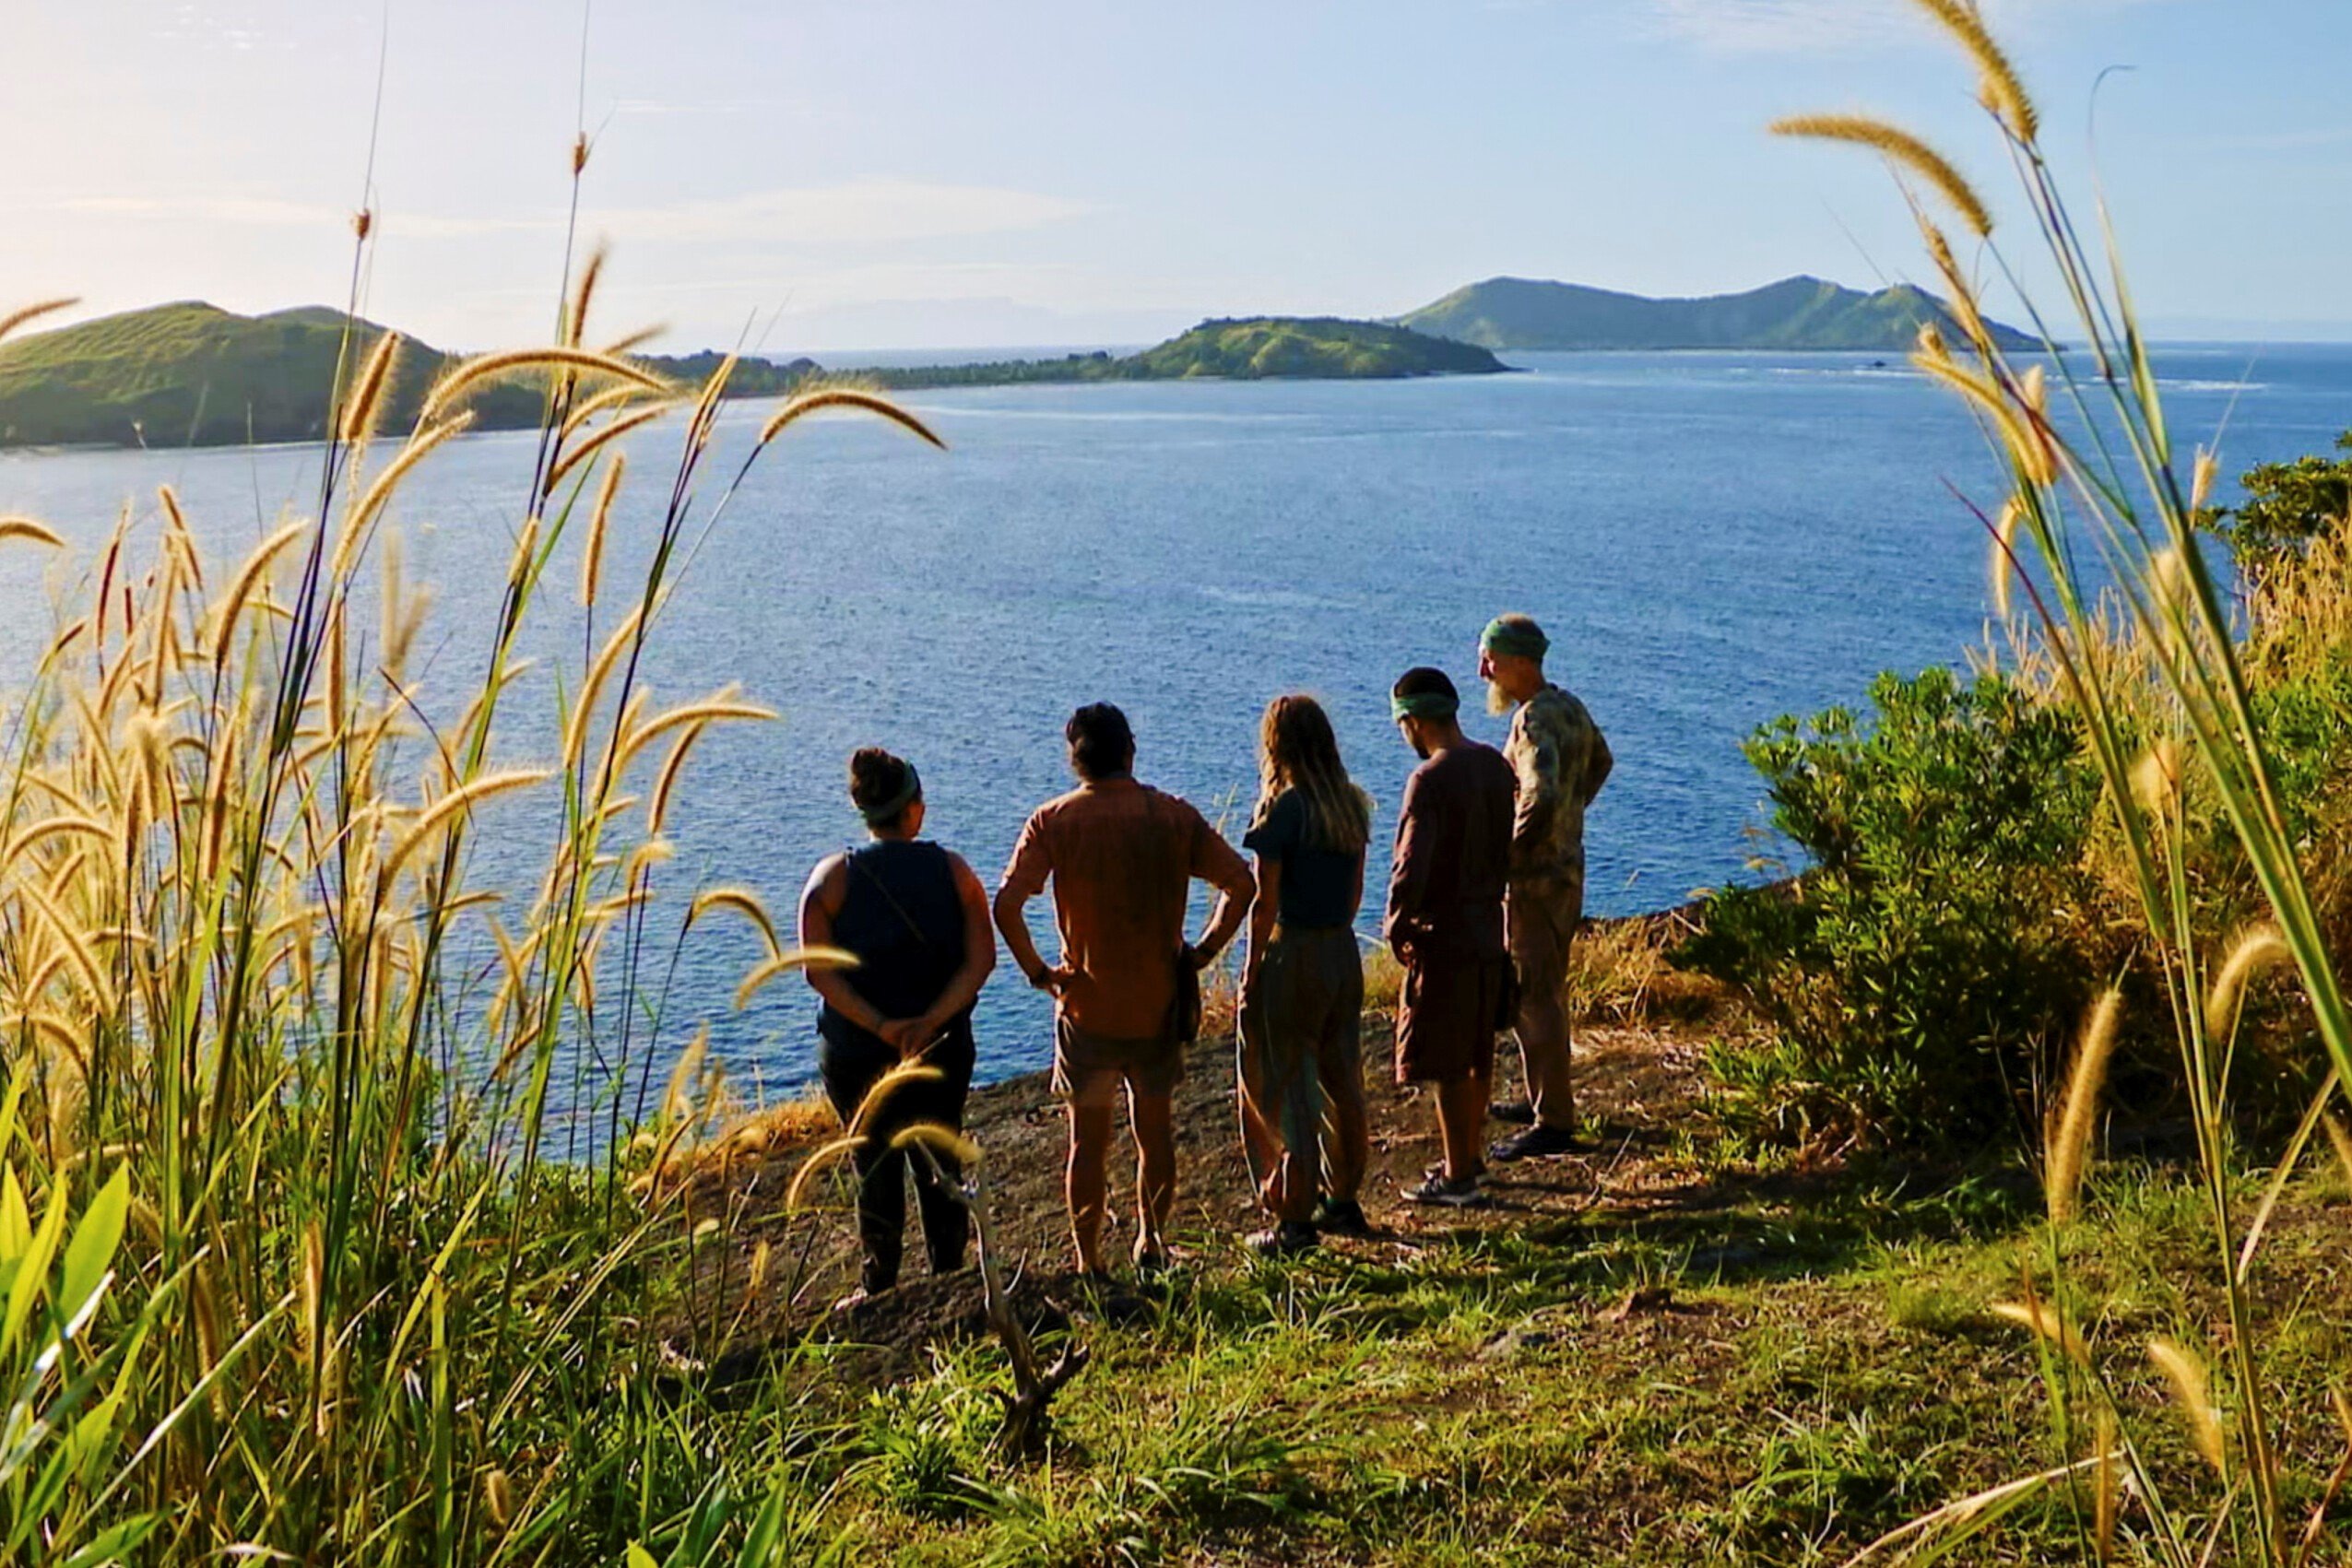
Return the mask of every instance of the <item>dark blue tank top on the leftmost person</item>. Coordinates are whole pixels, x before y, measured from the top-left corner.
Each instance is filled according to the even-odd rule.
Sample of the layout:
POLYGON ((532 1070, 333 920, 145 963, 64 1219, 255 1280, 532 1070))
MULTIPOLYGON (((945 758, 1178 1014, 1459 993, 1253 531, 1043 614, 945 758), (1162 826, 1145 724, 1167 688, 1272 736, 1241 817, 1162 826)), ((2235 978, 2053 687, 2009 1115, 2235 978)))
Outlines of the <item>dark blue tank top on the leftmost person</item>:
MULTIPOLYGON (((964 898, 955 886, 955 863, 946 849, 922 839, 877 839, 851 849, 844 860, 833 945, 858 954, 858 966, 842 978, 884 1018, 929 1011, 964 966, 964 898)), ((818 1027, 830 1039, 873 1039, 830 1006, 818 1027)), ((971 1027, 971 1009, 948 1027, 971 1027)))

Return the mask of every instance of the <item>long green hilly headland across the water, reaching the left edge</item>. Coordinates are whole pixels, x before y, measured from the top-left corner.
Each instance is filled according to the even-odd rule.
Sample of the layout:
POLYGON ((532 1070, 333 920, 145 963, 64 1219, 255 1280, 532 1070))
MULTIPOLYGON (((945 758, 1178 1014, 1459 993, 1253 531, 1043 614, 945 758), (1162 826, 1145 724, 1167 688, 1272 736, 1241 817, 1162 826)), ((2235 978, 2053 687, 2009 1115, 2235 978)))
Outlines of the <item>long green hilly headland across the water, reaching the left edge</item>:
MULTIPOLYGON (((360 360, 383 329, 362 322, 360 360)), ((219 447, 306 442, 327 433, 329 388, 343 353, 343 315, 320 306, 233 315, 183 301, 42 331, 0 346, 0 447, 219 447)), ((409 341, 381 421, 405 430, 452 355, 409 341)), ((680 383, 701 383, 720 355, 640 355, 680 383)), ((1388 378, 1505 369, 1484 348, 1385 322, 1251 317, 1202 322, 1138 355, 1068 355, 995 364, 842 371, 863 386, 1009 386, 1028 381, 1176 381, 1190 376, 1388 378)), ((814 360, 736 364, 731 397, 774 397, 826 374, 814 360)), ((532 428, 541 395, 529 383, 485 388, 475 428, 532 428)))

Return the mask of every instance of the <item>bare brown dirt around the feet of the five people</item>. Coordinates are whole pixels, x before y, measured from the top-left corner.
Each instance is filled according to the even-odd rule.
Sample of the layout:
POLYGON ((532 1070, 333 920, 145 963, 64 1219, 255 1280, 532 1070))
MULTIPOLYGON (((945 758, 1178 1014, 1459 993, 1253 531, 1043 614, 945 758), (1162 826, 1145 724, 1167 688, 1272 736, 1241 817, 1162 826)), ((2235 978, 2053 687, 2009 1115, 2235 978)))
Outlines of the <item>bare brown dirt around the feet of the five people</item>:
MULTIPOLYGON (((1698 1201, 1691 1168, 1672 1154, 1677 1121, 1693 1114, 1703 1065, 1700 1037, 1689 1027, 1595 1027, 1576 1032, 1578 1110, 1585 1117, 1588 1152, 1494 1166, 1489 1208, 1425 1208, 1406 1204, 1402 1190, 1437 1161, 1437 1126, 1430 1095, 1399 1086, 1390 1067, 1392 1020, 1364 1016, 1364 1084, 1371 1107, 1371 1161, 1362 1201, 1374 1234, 1327 1237, 1327 1246, 1397 1255, 1430 1234, 1524 1227, 1609 1208, 1656 1208, 1698 1201)), ((1519 1093, 1517 1051, 1510 1037, 1498 1056, 1496 1098, 1519 1093)), ((1037 1326, 1054 1326, 1080 1302, 1096 1302, 1073 1276, 1068 1211, 1063 1206, 1063 1110, 1044 1072, 1023 1074, 971 1091, 964 1128, 983 1150, 988 1204, 997 1253, 1016 1298, 1037 1326)), ((1515 1128, 1489 1124, 1489 1138, 1515 1128)), ((908 1265, 898 1291, 835 1312, 856 1281, 856 1234, 847 1164, 818 1175, 790 1211, 793 1175, 828 1128, 811 1128, 793 1147, 769 1147, 757 1159, 736 1159, 706 1171, 689 1199, 689 1215, 722 1218, 734 1246, 715 1248, 699 1276, 706 1302, 724 1302, 720 1314, 694 1316, 708 1326, 724 1321, 724 1345, 706 1331, 687 1331, 703 1354, 743 1359, 764 1354, 807 1333, 875 1345, 901 1356, 920 1354, 941 1333, 978 1331, 978 1281, 971 1269, 927 1279, 922 1248, 908 1239, 908 1265), (767 1248, 767 1260, 750 1258, 767 1248)), ((1176 1265, 1207 1265, 1240 1237, 1261 1229, 1258 1208, 1242 1161, 1235 1110, 1232 1034, 1204 1034, 1188 1056, 1176 1095, 1176 1211, 1169 1227, 1176 1265)), ((1134 1161, 1120 1138, 1110 1164, 1110 1225, 1103 1251, 1124 1260, 1134 1244, 1134 1161)), ((908 1201, 908 1227, 917 1225, 908 1201)), ((1122 1274, 1122 1291, 1129 1288, 1122 1274)), ((1098 1302, 1096 1302, 1098 1305, 1098 1302)), ((1117 1293, 1110 1298, 1117 1312, 1117 1293)))

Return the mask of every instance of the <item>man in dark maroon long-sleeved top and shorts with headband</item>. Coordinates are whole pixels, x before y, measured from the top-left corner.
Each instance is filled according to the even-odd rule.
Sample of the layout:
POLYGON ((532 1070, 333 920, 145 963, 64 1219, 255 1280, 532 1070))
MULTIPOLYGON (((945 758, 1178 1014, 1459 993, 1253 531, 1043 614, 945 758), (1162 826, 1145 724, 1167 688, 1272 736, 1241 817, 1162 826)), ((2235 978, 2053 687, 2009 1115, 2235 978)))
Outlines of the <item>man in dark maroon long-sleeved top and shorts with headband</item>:
POLYGON ((1385 936, 1404 964, 1397 1004, 1397 1081, 1437 1093, 1444 1166, 1404 1197, 1484 1204, 1479 1135, 1494 1077, 1494 1037, 1508 1023, 1512 771, 1503 752, 1463 733, 1461 696, 1444 670, 1406 670, 1390 712, 1423 764, 1404 785, 1385 936))

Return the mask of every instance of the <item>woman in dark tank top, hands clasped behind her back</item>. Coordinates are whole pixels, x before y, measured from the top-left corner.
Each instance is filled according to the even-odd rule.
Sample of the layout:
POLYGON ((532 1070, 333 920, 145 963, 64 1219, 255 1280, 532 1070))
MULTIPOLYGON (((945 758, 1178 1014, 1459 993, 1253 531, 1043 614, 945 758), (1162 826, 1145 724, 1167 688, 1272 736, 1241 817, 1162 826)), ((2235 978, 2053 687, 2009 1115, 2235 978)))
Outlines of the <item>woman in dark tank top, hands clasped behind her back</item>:
MULTIPOLYGON (((849 799, 866 818, 868 844, 818 860, 800 896, 802 947, 844 947, 856 969, 811 969, 823 999, 816 1013, 816 1072, 847 1126, 875 1081, 903 1060, 946 1077, 898 1086, 868 1119, 856 1152, 858 1241, 866 1267, 842 1307, 898 1284, 906 1237, 906 1180, 915 1178, 931 1272, 964 1267, 969 1215, 941 1187, 931 1161, 891 1150, 915 1121, 962 1131, 971 1088, 971 1004, 997 964, 988 893, 964 860, 924 842, 922 778, 880 748, 849 759, 849 799)), ((948 1178, 960 1175, 950 1159, 948 1178)))

